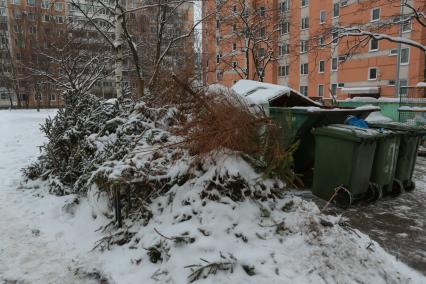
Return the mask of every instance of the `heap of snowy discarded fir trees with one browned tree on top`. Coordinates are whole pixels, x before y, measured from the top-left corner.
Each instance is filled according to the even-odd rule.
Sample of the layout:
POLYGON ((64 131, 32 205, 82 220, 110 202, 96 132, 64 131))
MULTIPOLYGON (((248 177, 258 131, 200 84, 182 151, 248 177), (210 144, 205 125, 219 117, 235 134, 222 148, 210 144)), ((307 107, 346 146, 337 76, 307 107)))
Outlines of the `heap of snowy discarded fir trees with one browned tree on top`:
POLYGON ((181 103, 173 106, 67 95, 66 107, 42 125, 48 143, 25 175, 47 180, 59 195, 85 194, 96 185, 113 200, 118 188, 127 211, 149 217, 145 208, 153 198, 196 182, 217 159, 237 155, 260 177, 253 181, 217 167, 200 186, 202 198, 242 201, 282 194, 283 182, 265 178, 291 176, 291 152, 281 149, 278 128, 268 118, 230 93, 220 94, 225 99, 217 93, 180 94, 181 103))

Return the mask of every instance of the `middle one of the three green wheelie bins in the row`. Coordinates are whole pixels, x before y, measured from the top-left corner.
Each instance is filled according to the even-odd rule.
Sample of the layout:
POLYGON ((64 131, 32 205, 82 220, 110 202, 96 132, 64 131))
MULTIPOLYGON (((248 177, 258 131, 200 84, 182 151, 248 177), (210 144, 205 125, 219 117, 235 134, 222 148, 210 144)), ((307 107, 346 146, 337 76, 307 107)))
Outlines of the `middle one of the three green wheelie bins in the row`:
POLYGON ((401 181, 395 178, 401 133, 382 129, 379 132, 385 136, 377 141, 370 178, 371 186, 377 187, 372 192, 378 194, 370 196, 368 201, 375 201, 382 194, 397 196, 403 190, 401 181))

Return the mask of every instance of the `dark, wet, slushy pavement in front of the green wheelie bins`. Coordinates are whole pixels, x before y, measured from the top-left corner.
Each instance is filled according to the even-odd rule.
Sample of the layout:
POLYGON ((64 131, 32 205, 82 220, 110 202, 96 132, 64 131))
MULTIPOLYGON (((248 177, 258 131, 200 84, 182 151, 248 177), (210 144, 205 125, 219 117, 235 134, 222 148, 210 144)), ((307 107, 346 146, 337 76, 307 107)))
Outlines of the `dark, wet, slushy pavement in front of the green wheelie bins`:
MULTIPOLYGON (((356 204, 346 211, 330 206, 326 213, 342 214, 352 227, 426 275, 426 158, 417 158, 414 179, 417 188, 413 192, 372 204, 356 204)), ((325 205, 310 192, 301 195, 320 208, 325 205)))

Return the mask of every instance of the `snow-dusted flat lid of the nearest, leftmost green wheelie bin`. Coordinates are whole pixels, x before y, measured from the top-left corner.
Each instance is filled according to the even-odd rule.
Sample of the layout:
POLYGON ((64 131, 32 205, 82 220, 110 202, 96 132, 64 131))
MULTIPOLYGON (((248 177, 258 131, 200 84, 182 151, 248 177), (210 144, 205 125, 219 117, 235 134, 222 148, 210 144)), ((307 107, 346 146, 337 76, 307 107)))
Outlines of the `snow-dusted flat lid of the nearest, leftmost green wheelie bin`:
POLYGON ((314 134, 315 136, 329 136, 343 140, 362 142, 382 139, 391 134, 391 132, 380 132, 372 128, 360 128, 345 124, 333 124, 315 129, 314 134))

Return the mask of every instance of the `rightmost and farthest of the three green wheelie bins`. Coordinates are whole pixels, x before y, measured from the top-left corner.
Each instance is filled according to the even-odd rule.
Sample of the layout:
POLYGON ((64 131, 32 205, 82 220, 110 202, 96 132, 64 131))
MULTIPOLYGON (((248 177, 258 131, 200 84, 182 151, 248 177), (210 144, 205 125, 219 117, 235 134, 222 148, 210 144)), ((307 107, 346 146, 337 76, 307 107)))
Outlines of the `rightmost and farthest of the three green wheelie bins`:
POLYGON ((413 181, 413 172, 416 165, 417 151, 426 130, 400 122, 369 123, 370 127, 392 130, 401 133, 395 178, 399 180, 405 191, 412 191, 416 185, 413 181))

